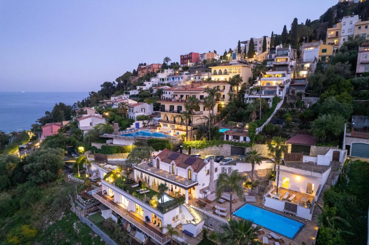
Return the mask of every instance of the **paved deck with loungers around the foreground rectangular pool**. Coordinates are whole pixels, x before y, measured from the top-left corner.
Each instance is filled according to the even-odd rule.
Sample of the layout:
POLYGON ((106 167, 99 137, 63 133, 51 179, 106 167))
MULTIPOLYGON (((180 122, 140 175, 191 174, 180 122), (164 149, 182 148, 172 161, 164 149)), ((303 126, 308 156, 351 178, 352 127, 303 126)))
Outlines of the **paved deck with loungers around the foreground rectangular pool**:
MULTIPOLYGON (((310 221, 310 220, 300 218, 300 217, 295 217, 295 216, 292 216, 290 214, 285 214, 283 212, 280 212, 280 211, 275 210, 275 209, 271 209, 269 207, 264 207, 262 205, 262 203, 263 203, 263 196, 262 195, 256 195, 255 198, 256 198, 256 202, 252 202, 252 203, 249 203, 249 204, 260 207, 260 208, 265 209, 265 210, 268 210, 270 212, 279 214, 281 216, 288 217, 292 220, 296 220, 296 221, 301 222, 301 223, 304 224, 303 228, 299 232, 297 232, 297 234, 295 235, 295 237, 293 239, 290 239, 290 238, 285 237, 282 234, 280 234, 283 237, 284 244, 301 245, 301 242, 305 242, 306 244, 315 244, 315 237, 316 237, 317 231, 318 231, 317 223, 315 223, 314 221, 310 221)), ((203 202, 206 202, 206 198, 204 198, 204 199, 190 200, 190 204, 192 204, 193 206, 198 206, 197 203, 196 203, 197 200, 202 200, 203 202)), ((237 210, 237 209, 239 209, 240 207, 242 207, 246 204, 244 198, 239 199, 236 196, 235 200, 236 200, 236 202, 232 203, 232 209, 234 209, 234 210, 237 210)), ((226 209, 225 213, 227 213, 228 216, 227 217, 221 217, 220 216, 221 218, 226 220, 229 217, 229 214, 230 214, 230 203, 228 201, 226 201, 224 203, 219 203, 215 200, 211 203, 207 203, 205 208, 201 207, 201 206, 199 206, 199 208, 203 209, 205 212, 213 213, 215 205, 218 205, 220 207, 224 207, 226 209)), ((232 215, 232 217, 235 218, 235 219, 240 219, 238 216, 233 216, 232 215)), ((258 234, 259 235, 259 241, 262 241, 262 237, 267 237, 270 232, 275 232, 275 231, 272 231, 272 230, 268 230, 266 228, 263 228, 263 229, 264 229, 264 233, 263 234, 258 234)), ((275 232, 275 233, 278 234, 277 232, 275 232)), ((274 244, 274 242, 276 241, 273 238, 268 238, 268 239, 269 239, 269 244, 274 244)))

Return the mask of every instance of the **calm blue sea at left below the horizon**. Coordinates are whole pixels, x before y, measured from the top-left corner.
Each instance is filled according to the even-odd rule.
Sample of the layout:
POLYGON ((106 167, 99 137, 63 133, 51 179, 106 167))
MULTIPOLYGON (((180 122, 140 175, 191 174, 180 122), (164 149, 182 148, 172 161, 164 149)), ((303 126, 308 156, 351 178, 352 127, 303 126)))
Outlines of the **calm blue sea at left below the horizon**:
POLYGON ((0 130, 5 133, 31 129, 55 103, 73 105, 88 92, 0 92, 0 130))

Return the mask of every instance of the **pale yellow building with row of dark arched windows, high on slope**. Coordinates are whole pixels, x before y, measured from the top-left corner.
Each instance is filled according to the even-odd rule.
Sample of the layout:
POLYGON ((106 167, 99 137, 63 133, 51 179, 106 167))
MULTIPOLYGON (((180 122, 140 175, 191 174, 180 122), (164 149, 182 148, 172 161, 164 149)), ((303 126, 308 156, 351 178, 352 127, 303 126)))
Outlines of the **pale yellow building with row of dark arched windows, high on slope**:
POLYGON ((249 84, 249 77, 251 77, 251 65, 246 64, 240 60, 222 63, 211 68, 211 80, 228 82, 234 75, 242 77, 242 84, 249 84))

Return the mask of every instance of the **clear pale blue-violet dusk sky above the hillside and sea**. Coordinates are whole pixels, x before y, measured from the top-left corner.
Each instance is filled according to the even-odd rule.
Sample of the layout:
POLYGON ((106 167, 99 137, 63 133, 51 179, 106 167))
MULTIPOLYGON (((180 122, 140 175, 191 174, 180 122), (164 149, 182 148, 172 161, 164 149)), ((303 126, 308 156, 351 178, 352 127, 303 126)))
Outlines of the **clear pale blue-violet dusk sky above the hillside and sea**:
POLYGON ((139 63, 237 47, 337 0, 0 1, 0 91, 97 91, 139 63))

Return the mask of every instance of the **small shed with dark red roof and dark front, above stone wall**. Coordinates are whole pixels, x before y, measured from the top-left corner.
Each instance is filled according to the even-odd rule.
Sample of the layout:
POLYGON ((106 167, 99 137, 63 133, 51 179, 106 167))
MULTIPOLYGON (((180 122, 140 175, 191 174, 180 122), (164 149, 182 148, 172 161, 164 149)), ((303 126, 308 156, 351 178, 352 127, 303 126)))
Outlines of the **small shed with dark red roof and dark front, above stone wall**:
POLYGON ((286 141, 291 145, 291 153, 310 155, 311 146, 317 145, 318 140, 310 134, 296 134, 286 141))

